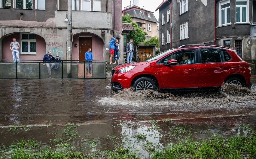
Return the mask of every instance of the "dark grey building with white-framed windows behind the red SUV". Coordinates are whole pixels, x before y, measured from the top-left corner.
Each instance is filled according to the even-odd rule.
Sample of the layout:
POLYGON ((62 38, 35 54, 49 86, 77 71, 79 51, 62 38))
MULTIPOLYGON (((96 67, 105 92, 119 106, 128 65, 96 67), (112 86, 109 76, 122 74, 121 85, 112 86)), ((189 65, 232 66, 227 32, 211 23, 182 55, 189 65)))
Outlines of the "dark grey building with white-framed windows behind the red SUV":
POLYGON ((243 59, 255 59, 255 0, 163 0, 156 10, 161 51, 209 44, 236 50, 243 59))

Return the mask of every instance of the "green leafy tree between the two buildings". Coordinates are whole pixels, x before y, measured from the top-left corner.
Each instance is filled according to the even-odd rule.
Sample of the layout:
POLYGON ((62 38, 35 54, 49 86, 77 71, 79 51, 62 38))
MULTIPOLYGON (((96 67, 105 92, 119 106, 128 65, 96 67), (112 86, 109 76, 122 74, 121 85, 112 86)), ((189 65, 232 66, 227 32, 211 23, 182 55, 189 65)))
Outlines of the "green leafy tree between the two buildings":
POLYGON ((127 34, 127 39, 133 39, 133 44, 140 44, 141 42, 144 42, 146 39, 146 35, 148 35, 147 32, 143 31, 142 27, 138 27, 138 24, 136 22, 132 22, 132 18, 130 14, 123 15, 123 23, 131 23, 134 27, 134 31, 129 31, 127 34), (133 36, 134 34, 134 36, 133 36))

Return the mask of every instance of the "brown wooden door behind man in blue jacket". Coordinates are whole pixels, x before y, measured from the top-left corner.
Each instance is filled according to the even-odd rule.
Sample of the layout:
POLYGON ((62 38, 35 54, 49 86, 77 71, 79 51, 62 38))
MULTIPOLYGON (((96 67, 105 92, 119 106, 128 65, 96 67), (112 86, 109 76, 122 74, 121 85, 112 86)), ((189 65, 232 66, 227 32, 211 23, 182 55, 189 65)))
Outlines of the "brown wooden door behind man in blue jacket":
MULTIPOLYGON (((85 60, 85 53, 88 48, 92 48, 92 38, 91 37, 79 37, 79 60, 85 60)), ((79 61, 83 62, 83 61, 79 61)))

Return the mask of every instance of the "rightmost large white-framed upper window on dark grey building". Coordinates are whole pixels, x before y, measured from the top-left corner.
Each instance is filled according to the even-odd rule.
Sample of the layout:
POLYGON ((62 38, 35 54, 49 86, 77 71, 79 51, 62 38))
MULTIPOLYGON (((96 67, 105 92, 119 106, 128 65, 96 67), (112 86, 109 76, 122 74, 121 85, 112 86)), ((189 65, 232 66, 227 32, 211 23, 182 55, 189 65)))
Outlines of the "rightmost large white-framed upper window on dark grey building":
POLYGON ((249 4, 247 0, 236 0, 236 23, 246 23, 248 17, 247 6, 249 4))

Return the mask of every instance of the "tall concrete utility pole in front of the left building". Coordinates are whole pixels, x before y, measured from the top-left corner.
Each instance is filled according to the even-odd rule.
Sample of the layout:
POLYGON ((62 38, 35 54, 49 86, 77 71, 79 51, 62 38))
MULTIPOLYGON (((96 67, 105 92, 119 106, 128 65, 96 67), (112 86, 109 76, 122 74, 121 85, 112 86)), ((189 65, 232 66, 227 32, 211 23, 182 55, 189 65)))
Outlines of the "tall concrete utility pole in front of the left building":
MULTIPOLYGON (((67 60, 72 60, 72 0, 68 0, 68 44, 67 60)), ((72 78, 72 61, 68 61, 68 78, 72 78)))

